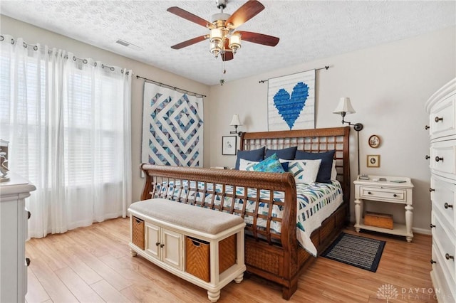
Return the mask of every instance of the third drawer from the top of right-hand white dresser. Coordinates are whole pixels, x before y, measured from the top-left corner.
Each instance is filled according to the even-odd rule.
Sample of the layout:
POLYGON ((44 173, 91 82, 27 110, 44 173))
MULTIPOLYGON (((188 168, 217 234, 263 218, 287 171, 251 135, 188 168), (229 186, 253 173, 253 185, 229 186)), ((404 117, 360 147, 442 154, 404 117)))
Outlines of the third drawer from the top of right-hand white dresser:
POLYGON ((432 188, 430 194, 432 209, 437 209, 454 230, 456 226, 456 184, 433 175, 430 179, 430 187, 432 188))

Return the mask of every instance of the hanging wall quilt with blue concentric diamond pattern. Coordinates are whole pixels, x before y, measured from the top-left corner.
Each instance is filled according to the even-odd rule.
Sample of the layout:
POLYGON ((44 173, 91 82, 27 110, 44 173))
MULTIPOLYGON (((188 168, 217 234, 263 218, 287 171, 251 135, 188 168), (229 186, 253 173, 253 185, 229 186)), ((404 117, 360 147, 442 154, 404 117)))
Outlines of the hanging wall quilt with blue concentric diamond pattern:
POLYGON ((202 97, 144 83, 142 163, 203 165, 202 97))

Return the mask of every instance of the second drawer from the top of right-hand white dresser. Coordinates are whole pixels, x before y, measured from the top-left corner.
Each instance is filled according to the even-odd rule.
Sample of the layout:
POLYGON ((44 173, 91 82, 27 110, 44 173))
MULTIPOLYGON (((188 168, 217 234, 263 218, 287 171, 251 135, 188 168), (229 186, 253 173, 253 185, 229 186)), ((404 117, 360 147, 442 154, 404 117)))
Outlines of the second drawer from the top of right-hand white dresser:
POLYGON ((438 174, 456 174, 456 140, 434 142, 430 146, 430 169, 438 174))

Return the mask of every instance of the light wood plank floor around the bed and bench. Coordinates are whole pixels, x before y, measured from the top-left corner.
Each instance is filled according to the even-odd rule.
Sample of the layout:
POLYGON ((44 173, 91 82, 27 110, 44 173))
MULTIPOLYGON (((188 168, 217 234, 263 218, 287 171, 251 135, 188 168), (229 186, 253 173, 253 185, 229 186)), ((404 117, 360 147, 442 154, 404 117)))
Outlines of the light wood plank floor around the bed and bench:
MULTIPOLYGON (((347 233, 355 233, 347 228, 347 233)), ((430 281, 431 237, 405 238, 361 233, 386 240, 377 272, 323 257, 299 280, 289 302, 386 302, 380 287, 395 287, 389 302, 437 302, 430 281)), ((128 248, 129 220, 115 219, 26 243, 31 302, 208 302, 206 290, 175 277, 128 248)), ((249 275, 224 287, 224 302, 286 302, 281 287, 249 275)))

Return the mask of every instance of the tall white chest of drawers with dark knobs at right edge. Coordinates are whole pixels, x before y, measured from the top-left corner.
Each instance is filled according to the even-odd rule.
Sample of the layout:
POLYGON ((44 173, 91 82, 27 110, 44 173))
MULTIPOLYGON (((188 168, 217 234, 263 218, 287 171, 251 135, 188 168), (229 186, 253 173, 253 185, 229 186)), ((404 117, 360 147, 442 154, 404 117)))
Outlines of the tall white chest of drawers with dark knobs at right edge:
POLYGON ((456 302, 456 79, 426 102, 429 113, 432 271, 439 302, 456 302))

